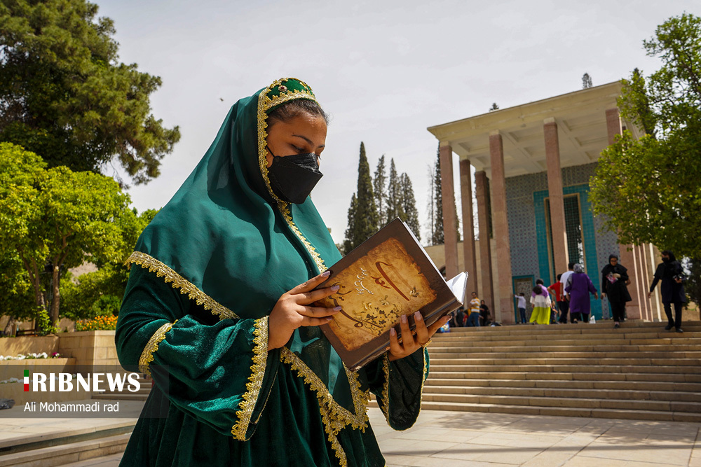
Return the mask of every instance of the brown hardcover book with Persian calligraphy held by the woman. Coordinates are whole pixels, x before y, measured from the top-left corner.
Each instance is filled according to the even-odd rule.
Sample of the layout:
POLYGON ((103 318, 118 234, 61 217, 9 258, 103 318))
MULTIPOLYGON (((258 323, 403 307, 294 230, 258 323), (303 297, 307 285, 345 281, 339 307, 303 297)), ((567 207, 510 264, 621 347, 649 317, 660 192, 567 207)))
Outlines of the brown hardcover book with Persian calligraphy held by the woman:
POLYGON ((318 306, 341 306, 321 329, 350 370, 358 370, 385 352, 389 331, 400 336, 400 319, 421 311, 426 326, 463 304, 468 274, 445 281, 418 240, 400 219, 329 267, 331 275, 318 288, 339 285, 339 291, 318 306))

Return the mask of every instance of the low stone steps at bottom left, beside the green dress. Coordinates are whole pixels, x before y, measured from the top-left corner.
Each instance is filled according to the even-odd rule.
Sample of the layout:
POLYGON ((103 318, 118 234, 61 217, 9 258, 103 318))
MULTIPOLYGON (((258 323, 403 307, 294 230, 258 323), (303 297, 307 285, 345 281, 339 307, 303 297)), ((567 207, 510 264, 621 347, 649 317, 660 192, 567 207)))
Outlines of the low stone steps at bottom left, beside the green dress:
POLYGON ((136 421, 88 433, 67 430, 0 445, 0 467, 52 467, 123 452, 136 421))

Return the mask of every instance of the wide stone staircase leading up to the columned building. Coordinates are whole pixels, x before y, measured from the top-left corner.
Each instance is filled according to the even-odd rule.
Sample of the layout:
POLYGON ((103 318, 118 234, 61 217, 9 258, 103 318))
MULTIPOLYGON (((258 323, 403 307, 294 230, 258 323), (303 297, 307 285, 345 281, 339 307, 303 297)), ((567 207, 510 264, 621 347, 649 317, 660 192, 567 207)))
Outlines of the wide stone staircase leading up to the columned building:
POLYGON ((454 328, 430 345, 424 409, 701 421, 701 322, 454 328))

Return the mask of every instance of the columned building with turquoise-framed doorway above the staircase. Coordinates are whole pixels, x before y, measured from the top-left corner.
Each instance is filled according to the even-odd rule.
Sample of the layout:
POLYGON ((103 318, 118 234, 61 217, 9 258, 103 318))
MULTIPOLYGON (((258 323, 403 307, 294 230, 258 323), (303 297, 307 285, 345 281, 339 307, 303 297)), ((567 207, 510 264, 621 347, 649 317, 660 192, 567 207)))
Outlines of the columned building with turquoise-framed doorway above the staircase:
MULTIPOLYGON (((428 128, 440 141, 447 277, 468 271, 468 290, 477 290, 497 321, 515 322, 514 294, 529 297, 538 278, 545 286, 552 284, 569 262, 583 264, 600 292, 600 271, 611 253, 620 256, 631 279, 628 318, 660 321, 664 316, 659 296, 648 300, 646 295, 658 251, 650 244, 618 244, 614 232, 601 231, 603 222, 592 214, 588 200, 599 153, 622 130, 641 136, 639 128, 620 117, 620 92, 620 82, 608 83, 428 128), (465 239, 460 255, 453 153, 460 161, 457 193, 465 239), (487 235, 489 242, 484 241, 487 235)), ((592 297, 592 313, 597 319, 609 316, 608 302, 592 297)))

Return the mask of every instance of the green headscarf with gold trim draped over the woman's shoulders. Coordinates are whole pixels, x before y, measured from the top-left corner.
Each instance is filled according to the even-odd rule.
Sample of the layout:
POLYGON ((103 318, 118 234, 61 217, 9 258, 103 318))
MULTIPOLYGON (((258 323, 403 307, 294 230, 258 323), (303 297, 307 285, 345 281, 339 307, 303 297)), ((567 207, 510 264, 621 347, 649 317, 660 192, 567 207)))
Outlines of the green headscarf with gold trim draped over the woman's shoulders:
MULTIPOLYGON (((219 319, 266 316, 280 295, 341 258, 310 197, 289 204, 271 190, 266 118, 293 99, 316 100, 308 85, 283 78, 236 102, 129 259, 164 275, 219 319)), ((319 328, 299 328, 271 357, 304 377, 322 413, 343 426, 365 425, 367 394, 319 328)))

